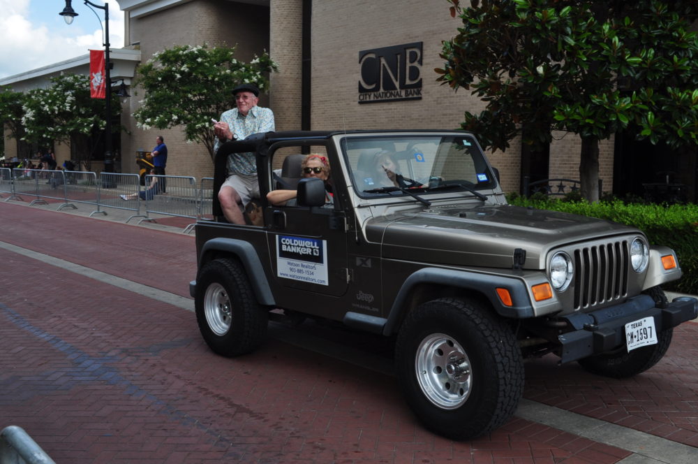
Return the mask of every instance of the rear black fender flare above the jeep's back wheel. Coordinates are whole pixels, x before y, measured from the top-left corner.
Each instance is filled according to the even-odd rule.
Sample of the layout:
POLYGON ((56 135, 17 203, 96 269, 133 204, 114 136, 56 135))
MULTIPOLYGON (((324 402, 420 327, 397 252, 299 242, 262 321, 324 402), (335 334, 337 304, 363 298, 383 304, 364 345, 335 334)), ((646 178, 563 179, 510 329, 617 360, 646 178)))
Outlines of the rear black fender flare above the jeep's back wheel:
MULTIPOLYGON (((208 240, 201 248, 199 254, 199 269, 201 269, 208 261, 211 261, 211 256, 214 252, 224 252, 237 257, 245 268, 245 272, 250 280, 255 297, 260 305, 275 306, 274 294, 269 287, 267 275, 262 267, 262 261, 255 247, 250 242, 237 240, 235 238, 212 238, 208 240)), ((195 282, 189 284, 191 296, 195 296, 195 282)))

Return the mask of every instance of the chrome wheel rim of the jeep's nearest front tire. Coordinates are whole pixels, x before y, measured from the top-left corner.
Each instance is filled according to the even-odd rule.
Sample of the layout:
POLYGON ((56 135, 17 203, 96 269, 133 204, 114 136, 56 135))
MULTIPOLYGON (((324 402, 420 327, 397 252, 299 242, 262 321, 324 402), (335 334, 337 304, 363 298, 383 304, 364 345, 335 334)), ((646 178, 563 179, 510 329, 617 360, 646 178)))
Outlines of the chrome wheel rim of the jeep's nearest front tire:
POLYGON ((415 370, 419 388, 434 405, 456 409, 466 403, 473 374, 466 351, 452 337, 433 333, 417 347, 415 370))

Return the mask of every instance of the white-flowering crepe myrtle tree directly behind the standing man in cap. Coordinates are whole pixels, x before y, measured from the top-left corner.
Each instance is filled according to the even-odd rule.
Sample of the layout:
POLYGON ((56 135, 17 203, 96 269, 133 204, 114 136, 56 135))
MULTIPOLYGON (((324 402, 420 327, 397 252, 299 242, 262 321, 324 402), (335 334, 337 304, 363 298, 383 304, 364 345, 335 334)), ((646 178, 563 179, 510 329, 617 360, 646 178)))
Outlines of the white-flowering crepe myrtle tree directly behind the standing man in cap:
MULTIPOLYGON (((136 85, 144 91, 133 113, 141 129, 184 126, 188 142, 205 145, 214 158, 211 119, 235 106, 230 91, 242 83, 269 89, 268 73, 276 63, 265 52, 248 64, 235 59, 234 47, 177 45, 156 52, 138 68, 136 85)), ((138 92, 138 90, 136 91, 138 92)))

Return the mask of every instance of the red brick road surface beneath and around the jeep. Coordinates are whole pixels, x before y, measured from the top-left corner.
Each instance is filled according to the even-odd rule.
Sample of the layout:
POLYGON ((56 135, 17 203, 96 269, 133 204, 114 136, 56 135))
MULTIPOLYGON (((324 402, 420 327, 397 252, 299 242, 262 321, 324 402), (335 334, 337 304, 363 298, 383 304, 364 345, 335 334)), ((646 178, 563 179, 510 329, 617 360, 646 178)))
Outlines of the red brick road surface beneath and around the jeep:
MULTIPOLYGON (((8 203, 0 224, 0 242, 181 296, 195 273, 188 235, 8 203)), ((0 282, 0 428, 21 426, 57 463, 615 463, 631 454, 519 417, 451 442, 416 423, 390 375, 276 338, 221 358, 193 313, 4 248, 0 282)), ((529 362, 526 398, 698 447, 697 331, 679 328, 664 360, 635 379, 529 362)))

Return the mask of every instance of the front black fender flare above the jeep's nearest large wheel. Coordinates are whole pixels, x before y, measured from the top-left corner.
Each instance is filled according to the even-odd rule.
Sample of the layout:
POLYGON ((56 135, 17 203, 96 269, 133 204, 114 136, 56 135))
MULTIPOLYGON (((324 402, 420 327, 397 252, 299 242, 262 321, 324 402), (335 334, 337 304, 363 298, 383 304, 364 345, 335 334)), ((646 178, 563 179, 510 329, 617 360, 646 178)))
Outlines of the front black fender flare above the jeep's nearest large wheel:
POLYGON ((526 282, 517 277, 475 273, 467 270, 443 268, 422 268, 403 282, 400 291, 390 308, 387 321, 383 326, 383 335, 392 335, 397 330, 408 305, 406 302, 419 284, 439 284, 447 287, 473 290, 482 293, 500 316, 511 319, 535 317, 530 303, 526 282), (505 306, 497 295, 496 289, 507 289, 512 297, 512 306, 505 306))

